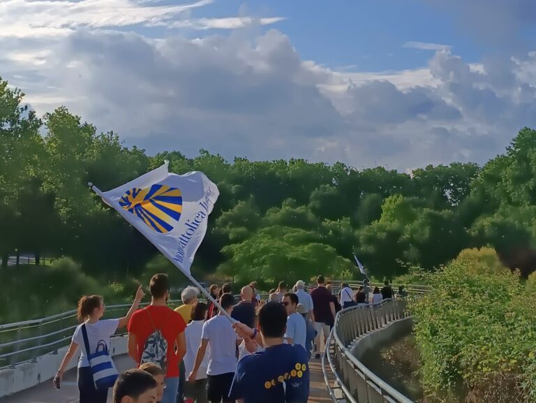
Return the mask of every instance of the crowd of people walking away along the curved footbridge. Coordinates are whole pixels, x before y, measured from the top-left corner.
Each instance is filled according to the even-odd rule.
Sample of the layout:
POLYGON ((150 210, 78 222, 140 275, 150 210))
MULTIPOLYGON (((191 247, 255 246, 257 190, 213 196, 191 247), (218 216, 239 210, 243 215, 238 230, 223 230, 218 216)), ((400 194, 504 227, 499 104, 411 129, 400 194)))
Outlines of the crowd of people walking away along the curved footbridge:
MULTIPOLYGON (((313 353, 320 358, 336 312, 393 298, 387 282, 381 291, 371 291, 368 281, 356 293, 342 283, 334 295, 322 275, 310 293, 304 281, 291 290, 281 281, 263 301, 256 288, 255 281, 241 288, 236 302, 231 284, 213 285, 205 303, 198 299, 200 290, 188 286, 181 292, 182 305, 173 310, 168 307, 168 276, 155 274, 149 284, 150 305, 138 309, 144 297, 140 286, 126 316, 105 320, 103 298, 84 296, 77 309, 81 324, 54 386, 61 387, 68 362, 80 347, 80 403, 105 403, 111 387, 114 403, 305 403, 308 362, 313 353), (137 369, 119 375, 108 349, 110 337, 125 327, 128 355, 137 369)), ((399 289, 399 295, 404 293, 399 289)))

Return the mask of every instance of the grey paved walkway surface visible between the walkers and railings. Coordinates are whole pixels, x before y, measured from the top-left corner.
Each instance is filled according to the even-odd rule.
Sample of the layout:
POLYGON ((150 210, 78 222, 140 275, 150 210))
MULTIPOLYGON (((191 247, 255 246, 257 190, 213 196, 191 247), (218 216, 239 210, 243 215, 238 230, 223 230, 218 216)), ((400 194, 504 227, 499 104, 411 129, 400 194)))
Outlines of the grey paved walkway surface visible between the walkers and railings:
MULTIPOLYGON (((128 356, 116 357, 114 361, 119 371, 134 367, 133 360, 128 356)), ((309 403, 331 402, 326 390, 320 360, 311 359, 309 364, 311 367, 311 397, 309 398, 309 403)), ((13 396, 0 398, 0 403, 77 403, 78 389, 75 381, 76 371, 71 370, 65 374, 64 385, 60 390, 54 390, 52 381, 47 381, 13 396)), ((108 402, 110 403, 112 402, 111 394, 110 391, 108 396, 108 402)))

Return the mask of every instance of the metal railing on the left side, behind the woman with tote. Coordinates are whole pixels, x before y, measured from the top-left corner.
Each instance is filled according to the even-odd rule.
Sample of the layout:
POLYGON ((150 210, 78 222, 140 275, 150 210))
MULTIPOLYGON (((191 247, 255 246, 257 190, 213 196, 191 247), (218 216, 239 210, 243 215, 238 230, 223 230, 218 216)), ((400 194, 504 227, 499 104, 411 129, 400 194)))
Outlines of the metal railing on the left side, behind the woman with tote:
MULTIPOLYGON (((181 304, 180 300, 170 300, 170 305, 181 304)), ((148 304, 140 304, 140 307, 148 304)), ((104 318, 126 316, 131 304, 106 307, 104 318)), ((76 310, 16 323, 0 325, 0 369, 14 368, 22 362, 37 362, 39 356, 52 353, 70 343, 77 323, 76 310)), ((125 329, 115 336, 124 335, 125 329)))

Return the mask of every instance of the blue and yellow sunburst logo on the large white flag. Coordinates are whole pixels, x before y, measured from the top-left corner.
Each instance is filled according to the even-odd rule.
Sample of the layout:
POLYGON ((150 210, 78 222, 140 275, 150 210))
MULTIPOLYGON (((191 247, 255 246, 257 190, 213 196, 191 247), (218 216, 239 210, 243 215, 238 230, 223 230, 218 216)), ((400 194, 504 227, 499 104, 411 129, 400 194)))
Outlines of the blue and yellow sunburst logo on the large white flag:
POLYGON ((157 233, 165 234, 173 229, 172 220, 179 221, 181 217, 182 193, 177 188, 154 184, 145 189, 126 191, 119 205, 157 233))

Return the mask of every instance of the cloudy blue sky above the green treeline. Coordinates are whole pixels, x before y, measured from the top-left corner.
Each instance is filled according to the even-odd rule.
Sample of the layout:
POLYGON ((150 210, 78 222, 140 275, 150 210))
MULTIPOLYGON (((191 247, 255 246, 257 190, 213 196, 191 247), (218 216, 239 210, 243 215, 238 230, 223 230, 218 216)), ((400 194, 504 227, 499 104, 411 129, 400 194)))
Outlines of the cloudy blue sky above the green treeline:
POLYGON ((0 0, 0 77, 156 154, 408 171, 536 128, 533 0, 0 0))

